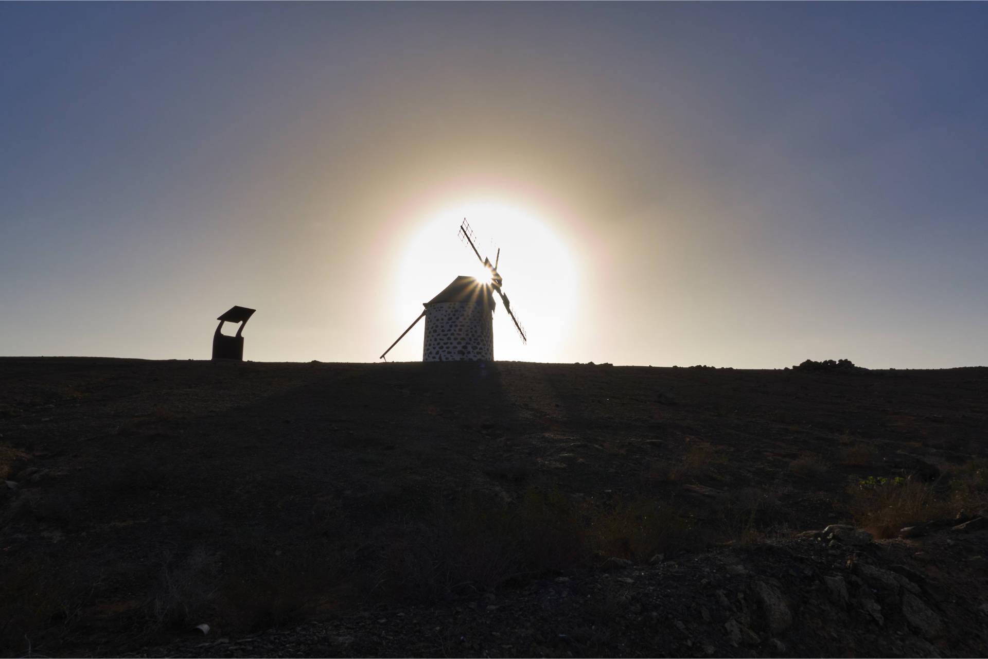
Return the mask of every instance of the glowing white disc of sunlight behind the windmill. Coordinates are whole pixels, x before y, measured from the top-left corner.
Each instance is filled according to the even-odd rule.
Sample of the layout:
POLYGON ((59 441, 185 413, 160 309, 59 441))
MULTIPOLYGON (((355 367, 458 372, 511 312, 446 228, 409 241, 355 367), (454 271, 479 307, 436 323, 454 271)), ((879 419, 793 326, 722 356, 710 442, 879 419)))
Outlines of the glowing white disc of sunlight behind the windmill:
MULTIPOLYGON (((498 361, 551 362, 565 352, 580 295, 577 255, 563 238, 564 223, 548 213, 513 206, 501 201, 473 201, 428 210, 406 242, 404 254, 395 263, 393 305, 395 325, 414 319, 428 301, 454 278, 470 276, 491 284, 492 272, 458 237, 459 224, 466 219, 475 236, 480 259, 497 263, 502 278, 495 295, 494 359, 498 361), (498 250, 500 249, 500 255, 498 250), (511 311, 526 330, 523 343, 507 312, 511 311), (400 317, 398 317, 400 316, 400 317)), ((409 346, 414 346, 414 341, 409 346)), ((397 350, 397 347, 396 349, 397 350)), ((421 359, 406 347, 399 359, 421 359)))

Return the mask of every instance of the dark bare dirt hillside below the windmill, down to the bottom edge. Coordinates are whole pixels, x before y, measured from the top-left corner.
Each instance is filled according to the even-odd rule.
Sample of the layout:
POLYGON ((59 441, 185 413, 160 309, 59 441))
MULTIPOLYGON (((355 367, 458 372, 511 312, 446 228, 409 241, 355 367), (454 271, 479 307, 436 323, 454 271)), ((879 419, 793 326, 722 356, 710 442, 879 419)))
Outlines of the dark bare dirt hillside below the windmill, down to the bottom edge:
POLYGON ((0 648, 984 656, 986 429, 982 368, 0 358, 0 648))

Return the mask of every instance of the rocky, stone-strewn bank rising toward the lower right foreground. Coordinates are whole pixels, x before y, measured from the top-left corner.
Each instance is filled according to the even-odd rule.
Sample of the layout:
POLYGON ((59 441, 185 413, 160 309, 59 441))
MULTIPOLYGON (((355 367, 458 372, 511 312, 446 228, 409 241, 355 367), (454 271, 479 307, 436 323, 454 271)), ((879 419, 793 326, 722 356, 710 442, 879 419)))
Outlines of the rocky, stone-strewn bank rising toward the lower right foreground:
POLYGON ((984 561, 963 559, 984 555, 983 533, 882 543, 807 535, 128 656, 984 655, 983 585, 963 583, 984 580, 984 561))

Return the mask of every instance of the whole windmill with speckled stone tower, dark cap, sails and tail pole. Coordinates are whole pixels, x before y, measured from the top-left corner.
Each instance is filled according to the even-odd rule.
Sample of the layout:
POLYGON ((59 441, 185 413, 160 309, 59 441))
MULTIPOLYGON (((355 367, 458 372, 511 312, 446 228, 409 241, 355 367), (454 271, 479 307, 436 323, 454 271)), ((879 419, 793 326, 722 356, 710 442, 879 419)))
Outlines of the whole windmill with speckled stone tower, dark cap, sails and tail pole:
POLYGON ((477 255, 481 265, 487 270, 490 281, 481 281, 475 277, 459 276, 447 288, 428 302, 423 302, 425 309, 415 321, 401 333, 380 359, 384 359, 391 348, 413 327, 426 319, 425 340, 422 347, 423 362, 460 362, 460 361, 491 361, 494 359, 494 330, 493 314, 497 306, 494 300, 496 292, 504 308, 508 311, 515 327, 518 329, 522 343, 528 342, 522 324, 511 310, 511 302, 501 287, 504 279, 497 272, 501 259, 501 250, 497 251, 494 265, 490 259, 482 258, 476 248, 476 237, 470 230, 470 225, 464 219, 459 225, 459 237, 465 240, 473 253, 477 255))

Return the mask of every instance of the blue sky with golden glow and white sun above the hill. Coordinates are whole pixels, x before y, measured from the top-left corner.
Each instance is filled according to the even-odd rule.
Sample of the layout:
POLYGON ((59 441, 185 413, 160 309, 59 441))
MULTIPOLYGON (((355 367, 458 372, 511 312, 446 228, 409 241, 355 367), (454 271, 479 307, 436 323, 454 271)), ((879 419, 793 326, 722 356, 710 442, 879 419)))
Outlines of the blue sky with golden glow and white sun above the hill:
POLYGON ((0 355, 988 365, 988 4, 0 3, 0 355), (233 328, 227 325, 228 333, 233 328), (388 355, 422 357, 423 324, 388 355))

